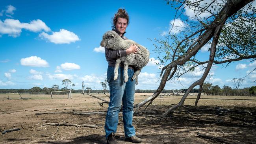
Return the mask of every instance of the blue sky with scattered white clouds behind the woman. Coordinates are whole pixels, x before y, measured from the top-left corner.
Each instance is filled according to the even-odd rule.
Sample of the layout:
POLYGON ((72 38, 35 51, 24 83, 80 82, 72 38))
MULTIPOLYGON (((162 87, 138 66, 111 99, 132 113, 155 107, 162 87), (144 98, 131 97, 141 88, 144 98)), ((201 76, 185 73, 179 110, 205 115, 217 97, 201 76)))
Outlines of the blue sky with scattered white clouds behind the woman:
MULTIPOLYGON (((255 3, 255 2, 254 2, 255 3)), ((255 5, 255 4, 254 4, 255 5)), ((163 0, 1 0, 0 3, 0 89, 60 88, 63 79, 76 86, 101 89, 108 63, 100 47, 102 35, 111 30, 111 18, 119 8, 130 15, 126 37, 150 50, 152 61, 139 75, 136 89, 157 89, 161 70, 154 61, 154 42, 169 31, 175 9, 163 0)), ((184 12, 184 16, 189 9, 184 12)), ((176 20, 178 22, 179 20, 176 20)), ((207 45, 198 56, 207 60, 207 45)), ((158 62, 158 61, 156 61, 158 62)), ((242 78, 253 70, 256 61, 231 63, 227 68, 213 66, 206 81, 234 87, 231 79, 242 78)), ((180 83, 167 82, 165 89, 183 89, 202 75, 198 68, 180 83)), ((242 87, 255 85, 256 72, 245 78, 242 87)))

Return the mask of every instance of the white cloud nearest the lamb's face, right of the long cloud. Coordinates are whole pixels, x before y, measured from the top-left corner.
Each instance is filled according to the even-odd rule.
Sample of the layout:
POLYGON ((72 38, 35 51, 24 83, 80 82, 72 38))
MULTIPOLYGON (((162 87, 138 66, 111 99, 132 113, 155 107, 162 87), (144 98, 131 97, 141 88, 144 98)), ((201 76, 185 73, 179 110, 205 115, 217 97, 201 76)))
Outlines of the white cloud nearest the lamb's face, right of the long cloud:
POLYGON ((41 39, 48 39, 55 44, 70 44, 71 42, 80 41, 79 37, 68 30, 60 29, 59 32, 52 32, 52 35, 42 32, 39 34, 41 39))

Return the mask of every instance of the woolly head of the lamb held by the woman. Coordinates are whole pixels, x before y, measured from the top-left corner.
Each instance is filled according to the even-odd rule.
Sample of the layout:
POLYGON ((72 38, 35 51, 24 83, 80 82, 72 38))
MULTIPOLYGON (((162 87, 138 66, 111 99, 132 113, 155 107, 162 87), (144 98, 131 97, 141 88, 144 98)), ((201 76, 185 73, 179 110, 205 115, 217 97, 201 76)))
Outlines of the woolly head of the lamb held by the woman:
POLYGON ((107 31, 102 36, 102 41, 100 42, 100 46, 106 47, 106 48, 113 48, 116 38, 118 34, 115 31, 107 31))

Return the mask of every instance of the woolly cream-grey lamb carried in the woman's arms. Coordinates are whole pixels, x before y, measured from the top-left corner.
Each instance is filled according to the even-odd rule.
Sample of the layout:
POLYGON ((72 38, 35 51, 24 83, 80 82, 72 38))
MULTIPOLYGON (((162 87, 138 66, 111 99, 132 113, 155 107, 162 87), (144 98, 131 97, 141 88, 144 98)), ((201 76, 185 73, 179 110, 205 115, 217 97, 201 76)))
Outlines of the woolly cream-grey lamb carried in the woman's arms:
POLYGON ((102 41, 100 42, 100 46, 109 48, 112 50, 126 50, 132 44, 135 44, 139 51, 137 54, 128 54, 120 59, 117 59, 115 62, 115 69, 114 69, 114 80, 118 77, 118 68, 119 64, 122 62, 124 63, 124 82, 128 81, 128 66, 134 66, 136 69, 132 80, 135 79, 136 85, 138 85, 138 75, 141 72, 141 69, 147 65, 149 61, 149 51, 144 46, 137 44, 132 40, 124 40, 118 35, 115 31, 107 31, 104 33, 102 37, 102 41))

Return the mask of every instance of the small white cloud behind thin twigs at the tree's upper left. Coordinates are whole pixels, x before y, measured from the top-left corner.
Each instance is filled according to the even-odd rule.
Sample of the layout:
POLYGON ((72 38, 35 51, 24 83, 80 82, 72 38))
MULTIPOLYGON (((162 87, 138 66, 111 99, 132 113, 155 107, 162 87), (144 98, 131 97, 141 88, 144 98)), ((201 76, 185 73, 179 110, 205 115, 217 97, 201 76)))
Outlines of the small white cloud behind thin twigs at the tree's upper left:
POLYGON ((171 20, 169 31, 171 31, 171 33, 178 34, 180 31, 184 30, 185 26, 186 24, 180 18, 177 18, 175 20, 171 20))

